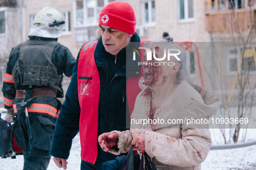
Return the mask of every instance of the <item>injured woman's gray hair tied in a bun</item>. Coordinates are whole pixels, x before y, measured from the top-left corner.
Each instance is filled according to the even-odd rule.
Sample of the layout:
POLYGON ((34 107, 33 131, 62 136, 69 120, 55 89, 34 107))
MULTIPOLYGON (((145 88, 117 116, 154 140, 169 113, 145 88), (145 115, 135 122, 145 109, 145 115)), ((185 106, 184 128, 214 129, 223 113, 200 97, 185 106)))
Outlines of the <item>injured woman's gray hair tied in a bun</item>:
POLYGON ((185 65, 185 57, 184 57, 184 52, 183 50, 177 45, 173 44, 173 38, 169 35, 168 32, 163 32, 162 39, 155 41, 155 42, 161 42, 161 47, 165 48, 175 48, 181 50, 181 54, 177 55, 177 57, 180 59, 178 61, 180 68, 177 72, 177 78, 176 78, 176 83, 180 84, 182 80, 185 80, 188 82, 192 87, 194 87, 194 83, 191 81, 191 79, 188 76, 188 72, 186 70, 185 65))

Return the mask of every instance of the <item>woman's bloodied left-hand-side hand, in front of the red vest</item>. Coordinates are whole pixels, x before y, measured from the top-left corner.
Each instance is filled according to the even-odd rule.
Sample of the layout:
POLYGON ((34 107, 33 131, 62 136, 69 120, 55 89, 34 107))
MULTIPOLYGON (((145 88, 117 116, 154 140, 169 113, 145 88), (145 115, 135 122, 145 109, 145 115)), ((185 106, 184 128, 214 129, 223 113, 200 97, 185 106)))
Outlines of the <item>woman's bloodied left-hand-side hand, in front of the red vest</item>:
POLYGON ((118 135, 115 132, 106 132, 99 135, 98 142, 103 151, 109 152, 109 148, 117 146, 118 135))

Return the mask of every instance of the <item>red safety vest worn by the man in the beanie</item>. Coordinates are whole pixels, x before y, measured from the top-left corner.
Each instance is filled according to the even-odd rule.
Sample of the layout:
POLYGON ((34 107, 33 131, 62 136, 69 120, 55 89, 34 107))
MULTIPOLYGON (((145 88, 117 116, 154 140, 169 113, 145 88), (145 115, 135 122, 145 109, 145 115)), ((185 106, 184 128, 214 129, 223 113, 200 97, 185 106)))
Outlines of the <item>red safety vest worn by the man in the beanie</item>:
MULTIPOLYGON (((94 164, 97 159, 98 105, 100 96, 100 76, 94 60, 96 45, 97 41, 84 44, 78 59, 81 158, 91 164, 94 164)), ((126 93, 130 114, 133 111, 137 95, 145 87, 143 82, 142 69, 140 76, 129 77, 127 80, 126 93)))

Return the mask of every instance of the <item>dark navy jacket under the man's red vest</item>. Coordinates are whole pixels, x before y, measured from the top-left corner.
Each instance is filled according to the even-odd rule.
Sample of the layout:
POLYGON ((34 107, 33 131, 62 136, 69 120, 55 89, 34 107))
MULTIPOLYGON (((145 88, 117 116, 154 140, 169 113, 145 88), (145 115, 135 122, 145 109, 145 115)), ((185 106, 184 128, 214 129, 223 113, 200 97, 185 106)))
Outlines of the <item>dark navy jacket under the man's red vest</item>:
MULTIPOLYGON (((138 42, 139 37, 137 34, 133 35, 131 41, 138 42)), ((80 89, 78 89, 78 71, 87 72, 90 67, 86 65, 83 66, 83 70, 78 70, 78 66, 82 63, 78 63, 81 57, 81 53, 84 52, 84 48, 87 44, 84 44, 81 48, 77 61, 75 64, 75 68, 73 70, 73 75, 71 79, 71 83, 68 87, 68 91, 66 93, 65 101, 62 105, 61 113, 59 114, 58 120, 56 122, 54 137, 52 141, 51 155, 54 157, 59 157, 63 159, 68 159, 69 151, 72 144, 72 139, 75 137, 77 132, 79 131, 79 120, 80 123, 86 119, 86 116, 81 116, 80 113, 81 107, 79 105, 78 93, 80 93, 80 89), (62 145, 59 145, 62 143, 62 145)), ((126 49, 120 50, 117 54, 117 65, 120 60, 126 60, 126 49)), ((92 56, 87 56, 92 57, 92 56)), ((98 124, 96 139, 86 139, 89 136, 80 136, 81 146, 83 142, 88 140, 94 140, 97 142, 98 135, 104 132, 110 132, 114 129, 125 130, 126 129, 126 64, 122 68, 114 70, 115 74, 111 75, 111 69, 116 69, 111 67, 109 62, 114 63, 115 56, 109 54, 105 51, 104 46, 102 45, 101 37, 97 42, 96 48, 94 50, 94 60, 97 66, 97 72, 99 74, 100 79, 100 92, 98 100, 98 118, 97 122, 92 122, 98 124), (123 100, 125 99, 125 100, 123 100)), ((131 76, 139 76, 140 68, 133 69, 131 76)), ((85 80, 85 79, 84 79, 85 80)), ((87 80, 85 80, 86 84, 87 80)), ((79 85, 80 87, 80 85, 79 85)), ((89 93, 94 93, 95 91, 89 91, 89 93)), ((91 108, 91 106, 83 106, 91 108)), ((86 114, 90 114, 86 113, 86 114)), ((88 119, 90 119, 88 117, 88 119)), ((85 125, 84 125, 85 126, 85 125)), ((80 126, 81 127, 81 126, 80 126)), ((86 128, 93 128, 87 126, 86 128)), ((95 129, 92 129, 92 132, 95 129)), ((87 161, 87 163, 94 164, 94 167, 97 169, 101 169, 102 164, 105 161, 113 160, 116 155, 104 152, 99 144, 97 143, 97 160, 94 164, 93 161, 87 161)), ((84 148, 82 148, 83 150, 84 148)), ((86 150, 82 151, 86 154, 86 150)), ((91 152, 90 152, 91 153, 91 152)), ((94 155, 92 155, 94 156, 94 155)))

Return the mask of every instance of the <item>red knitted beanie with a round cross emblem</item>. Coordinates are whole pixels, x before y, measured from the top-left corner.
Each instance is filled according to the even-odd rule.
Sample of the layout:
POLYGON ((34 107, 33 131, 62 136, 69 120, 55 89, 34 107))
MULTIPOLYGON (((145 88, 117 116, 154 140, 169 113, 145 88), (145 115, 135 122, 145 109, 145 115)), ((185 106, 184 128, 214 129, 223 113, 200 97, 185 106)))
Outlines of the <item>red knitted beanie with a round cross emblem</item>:
POLYGON ((101 9, 99 25, 106 25, 119 31, 134 34, 136 16, 129 3, 113 1, 101 9))

